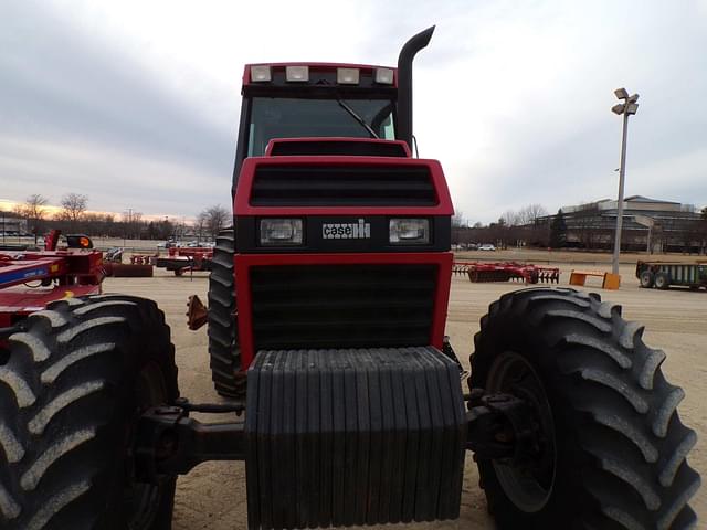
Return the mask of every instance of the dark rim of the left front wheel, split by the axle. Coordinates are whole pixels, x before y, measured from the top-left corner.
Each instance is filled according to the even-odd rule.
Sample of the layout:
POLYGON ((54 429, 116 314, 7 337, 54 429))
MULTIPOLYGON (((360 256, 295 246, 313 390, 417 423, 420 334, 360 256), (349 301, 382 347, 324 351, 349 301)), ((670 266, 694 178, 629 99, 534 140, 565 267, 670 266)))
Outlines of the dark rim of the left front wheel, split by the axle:
MULTIPOLYGON (((137 379, 135 391, 140 413, 150 406, 166 403, 167 389, 159 367, 154 363, 145 367, 137 379)), ((150 528, 157 516, 161 497, 160 485, 138 483, 129 477, 124 491, 126 513, 129 513, 128 529, 150 528)))

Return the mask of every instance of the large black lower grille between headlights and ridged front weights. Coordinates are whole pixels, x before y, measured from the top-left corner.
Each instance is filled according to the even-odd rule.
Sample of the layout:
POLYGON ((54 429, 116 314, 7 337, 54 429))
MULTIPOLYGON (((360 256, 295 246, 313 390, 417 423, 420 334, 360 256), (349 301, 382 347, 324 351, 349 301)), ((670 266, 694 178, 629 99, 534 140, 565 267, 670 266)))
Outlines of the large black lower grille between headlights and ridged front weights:
POLYGON ((433 265, 251 268, 255 350, 426 346, 433 265))

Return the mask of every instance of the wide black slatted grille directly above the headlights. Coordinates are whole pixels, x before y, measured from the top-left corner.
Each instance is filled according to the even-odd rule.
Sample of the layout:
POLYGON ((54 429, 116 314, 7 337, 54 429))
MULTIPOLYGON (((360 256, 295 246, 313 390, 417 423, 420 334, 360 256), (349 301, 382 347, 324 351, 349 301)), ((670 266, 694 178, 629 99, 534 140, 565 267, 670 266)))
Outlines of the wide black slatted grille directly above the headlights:
POLYGON ((261 166, 254 206, 432 206, 436 193, 424 166, 261 166))

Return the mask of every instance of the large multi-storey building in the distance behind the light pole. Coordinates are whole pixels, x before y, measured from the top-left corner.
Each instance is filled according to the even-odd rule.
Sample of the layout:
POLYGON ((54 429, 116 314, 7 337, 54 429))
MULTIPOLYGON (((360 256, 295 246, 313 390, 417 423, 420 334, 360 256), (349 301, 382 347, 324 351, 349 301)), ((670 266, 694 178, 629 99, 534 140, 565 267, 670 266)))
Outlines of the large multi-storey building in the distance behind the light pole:
MULTIPOLYGON (((618 201, 604 199, 563 206, 567 246, 612 248, 618 201)), ((553 215, 539 221, 550 223, 553 215)), ((704 252, 707 221, 692 204, 632 195, 624 199, 622 250, 651 252, 704 252)))

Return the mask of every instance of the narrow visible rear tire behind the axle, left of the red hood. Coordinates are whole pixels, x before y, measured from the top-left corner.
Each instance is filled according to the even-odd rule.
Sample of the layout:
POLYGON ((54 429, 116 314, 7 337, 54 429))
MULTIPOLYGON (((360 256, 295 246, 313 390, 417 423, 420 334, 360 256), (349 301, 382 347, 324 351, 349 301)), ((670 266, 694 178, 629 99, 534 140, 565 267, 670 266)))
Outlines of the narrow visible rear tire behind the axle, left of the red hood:
POLYGON ((209 357, 213 386, 225 398, 245 396, 235 316, 233 229, 219 232, 209 275, 209 357))

